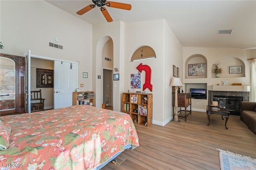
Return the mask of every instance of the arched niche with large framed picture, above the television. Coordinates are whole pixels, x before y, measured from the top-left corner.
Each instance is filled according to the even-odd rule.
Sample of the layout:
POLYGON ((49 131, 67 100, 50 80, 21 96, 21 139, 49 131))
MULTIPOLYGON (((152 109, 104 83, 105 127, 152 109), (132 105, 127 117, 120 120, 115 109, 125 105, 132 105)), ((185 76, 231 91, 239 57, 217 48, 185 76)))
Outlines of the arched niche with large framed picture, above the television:
MULTIPOLYGON (((202 54, 193 54, 193 55, 190 55, 190 57, 188 57, 185 61, 185 78, 186 79, 195 79, 195 78, 207 78, 207 59, 206 57, 204 57, 204 55, 202 54), (196 68, 194 70, 195 74, 189 74, 189 69, 188 69, 188 66, 193 66, 193 65, 203 65, 204 66, 204 73, 202 71, 202 69, 200 69, 200 75, 197 75, 196 74, 196 68), (204 75, 202 75, 204 74, 204 75)), ((191 67, 190 67, 191 68, 191 67)), ((194 73, 193 72, 193 73, 194 73)))

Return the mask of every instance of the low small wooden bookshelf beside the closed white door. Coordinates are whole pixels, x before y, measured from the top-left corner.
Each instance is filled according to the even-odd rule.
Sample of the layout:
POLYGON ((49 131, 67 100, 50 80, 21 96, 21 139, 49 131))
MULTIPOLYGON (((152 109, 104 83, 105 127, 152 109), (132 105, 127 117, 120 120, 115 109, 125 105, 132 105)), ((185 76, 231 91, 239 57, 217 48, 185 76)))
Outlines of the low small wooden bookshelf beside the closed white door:
POLYGON ((81 91, 73 92, 72 105, 90 105, 94 106, 94 92, 81 91))

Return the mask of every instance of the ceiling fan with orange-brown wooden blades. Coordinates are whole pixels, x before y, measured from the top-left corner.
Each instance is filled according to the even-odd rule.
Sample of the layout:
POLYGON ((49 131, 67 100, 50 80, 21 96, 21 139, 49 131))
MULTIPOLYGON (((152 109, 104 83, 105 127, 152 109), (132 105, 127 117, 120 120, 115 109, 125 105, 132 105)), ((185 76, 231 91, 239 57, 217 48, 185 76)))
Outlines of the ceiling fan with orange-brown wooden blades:
POLYGON ((110 14, 108 13, 107 9, 104 7, 105 5, 108 7, 119 8, 119 9, 123 9, 123 10, 131 10, 132 9, 132 6, 130 4, 124 4, 124 3, 120 3, 120 2, 112 2, 112 1, 106 1, 106 0, 92 0, 92 2, 94 4, 90 4, 86 7, 84 7, 82 10, 76 12, 76 14, 83 15, 86 12, 95 8, 95 6, 98 6, 98 7, 100 7, 100 11, 102 12, 102 14, 106 18, 106 20, 108 22, 112 22, 113 20, 112 20, 110 14))

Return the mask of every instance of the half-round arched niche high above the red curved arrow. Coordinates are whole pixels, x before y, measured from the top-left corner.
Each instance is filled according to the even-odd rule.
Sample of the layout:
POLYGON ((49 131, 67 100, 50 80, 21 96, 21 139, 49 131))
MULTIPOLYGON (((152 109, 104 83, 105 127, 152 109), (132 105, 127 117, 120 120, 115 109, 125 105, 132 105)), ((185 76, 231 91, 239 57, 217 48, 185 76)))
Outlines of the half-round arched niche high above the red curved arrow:
POLYGON ((139 60, 144 60, 144 59, 152 59, 156 58, 156 53, 153 48, 151 48, 148 45, 142 45, 134 51, 132 54, 131 61, 139 61, 139 60))

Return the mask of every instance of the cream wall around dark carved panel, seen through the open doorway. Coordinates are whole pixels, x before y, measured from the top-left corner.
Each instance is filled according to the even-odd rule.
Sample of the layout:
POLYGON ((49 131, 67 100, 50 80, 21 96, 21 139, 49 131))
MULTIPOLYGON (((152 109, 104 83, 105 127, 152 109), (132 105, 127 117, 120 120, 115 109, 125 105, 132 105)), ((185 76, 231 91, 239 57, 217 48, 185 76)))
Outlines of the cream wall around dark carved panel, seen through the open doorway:
POLYGON ((42 91, 42 98, 45 99, 44 101, 44 109, 53 109, 54 108, 54 91, 53 88, 36 88, 36 69, 54 69, 54 61, 45 60, 45 59, 38 59, 38 58, 31 58, 31 78, 30 78, 30 85, 31 91, 39 90, 42 91))

